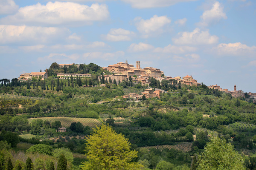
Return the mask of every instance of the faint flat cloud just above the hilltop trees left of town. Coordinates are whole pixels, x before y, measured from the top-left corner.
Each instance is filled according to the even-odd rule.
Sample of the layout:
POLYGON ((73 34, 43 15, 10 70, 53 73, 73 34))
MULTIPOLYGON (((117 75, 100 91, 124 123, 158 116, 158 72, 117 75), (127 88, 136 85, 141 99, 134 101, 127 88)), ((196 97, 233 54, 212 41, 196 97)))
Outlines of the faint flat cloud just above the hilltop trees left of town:
POLYGON ((54 62, 65 62, 65 61, 74 61, 76 59, 79 59, 80 55, 79 54, 58 54, 58 53, 51 53, 48 56, 44 57, 38 57, 38 61, 40 62, 49 62, 49 61, 54 61, 54 62))

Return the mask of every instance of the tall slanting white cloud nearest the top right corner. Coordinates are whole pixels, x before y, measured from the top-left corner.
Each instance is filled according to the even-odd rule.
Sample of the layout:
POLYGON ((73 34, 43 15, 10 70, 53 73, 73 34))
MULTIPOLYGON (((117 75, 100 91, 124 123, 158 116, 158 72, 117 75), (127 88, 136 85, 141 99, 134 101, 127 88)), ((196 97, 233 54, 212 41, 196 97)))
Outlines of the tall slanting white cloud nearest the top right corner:
POLYGON ((221 19, 227 19, 227 16, 223 11, 223 6, 219 2, 215 2, 212 5, 212 9, 204 11, 198 26, 209 26, 219 22, 221 19))

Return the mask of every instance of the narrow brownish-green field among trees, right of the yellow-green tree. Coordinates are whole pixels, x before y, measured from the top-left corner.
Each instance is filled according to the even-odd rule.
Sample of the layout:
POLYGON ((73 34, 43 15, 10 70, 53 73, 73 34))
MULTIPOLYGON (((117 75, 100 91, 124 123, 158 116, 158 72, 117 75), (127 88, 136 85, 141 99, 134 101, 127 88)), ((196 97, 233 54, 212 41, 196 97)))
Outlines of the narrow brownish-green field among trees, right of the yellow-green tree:
POLYGON ((175 144, 175 145, 160 145, 160 146, 145 146, 141 148, 147 148, 148 150, 151 148, 157 148, 160 150, 163 149, 176 149, 176 150, 181 150, 183 152, 188 152, 191 150, 192 143, 180 143, 180 144, 175 144))

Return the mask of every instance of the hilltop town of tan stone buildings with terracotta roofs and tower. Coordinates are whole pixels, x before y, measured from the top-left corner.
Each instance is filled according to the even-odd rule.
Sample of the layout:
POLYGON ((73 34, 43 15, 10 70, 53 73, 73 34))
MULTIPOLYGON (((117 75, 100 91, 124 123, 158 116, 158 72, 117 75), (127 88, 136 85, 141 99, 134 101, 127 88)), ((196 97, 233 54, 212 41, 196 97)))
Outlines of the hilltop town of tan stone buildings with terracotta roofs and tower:
MULTIPOLYGON (((80 67, 79 64, 58 64, 59 68, 67 69, 69 67, 78 68, 80 67)), ((185 77, 171 77, 171 76, 165 76, 164 72, 161 71, 159 68, 153 68, 153 67, 145 67, 141 68, 140 61, 136 61, 136 67, 134 65, 131 65, 126 60, 125 62, 117 62, 113 65, 108 65, 108 67, 102 67, 102 69, 105 72, 108 72, 109 74, 102 74, 98 76, 99 80, 99 86, 106 87, 108 83, 119 85, 121 82, 132 82, 132 85, 140 84, 145 87, 149 87, 150 79, 155 79, 160 84, 162 84, 162 81, 167 81, 169 84, 185 84, 189 86, 200 86, 201 83, 199 83, 196 79, 194 79, 192 76, 186 75, 185 77)), ((78 73, 57 73, 57 77, 59 79, 70 79, 71 77, 91 77, 92 74, 78 74, 78 73)), ((24 81, 26 79, 32 79, 33 77, 40 78, 42 80, 48 78, 48 69, 46 69, 44 72, 31 72, 31 73, 24 73, 21 74, 18 78, 21 81, 24 81)), ((89 85, 90 86, 90 85, 89 85)), ((83 85, 83 87, 87 87, 87 85, 83 85)), ((231 94, 232 97, 245 97, 247 101, 249 99, 253 100, 253 102, 256 102, 256 93, 244 93, 242 90, 237 90, 236 85, 234 85, 234 90, 229 91, 228 89, 223 89, 219 85, 209 85, 208 88, 218 90, 224 93, 231 94)), ((143 95, 145 95, 146 98, 152 98, 152 97, 160 97, 160 94, 164 93, 164 90, 158 89, 153 90, 152 88, 146 89, 142 94, 134 94, 131 93, 129 95, 123 96, 123 98, 130 98, 130 99, 142 99, 143 95)))

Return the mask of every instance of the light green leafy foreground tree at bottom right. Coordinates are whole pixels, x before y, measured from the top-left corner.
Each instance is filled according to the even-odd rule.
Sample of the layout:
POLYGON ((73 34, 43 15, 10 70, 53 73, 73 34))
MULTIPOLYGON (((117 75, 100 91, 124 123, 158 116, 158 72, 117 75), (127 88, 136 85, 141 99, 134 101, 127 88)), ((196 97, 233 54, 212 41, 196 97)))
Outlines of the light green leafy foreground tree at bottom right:
POLYGON ((244 159, 230 143, 217 136, 210 137, 204 153, 198 157, 198 170, 246 170, 244 159))

